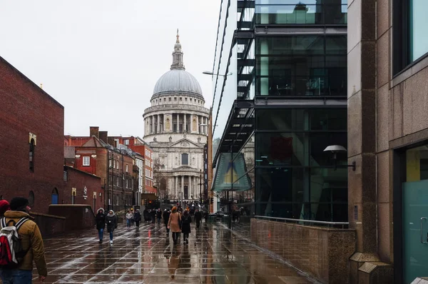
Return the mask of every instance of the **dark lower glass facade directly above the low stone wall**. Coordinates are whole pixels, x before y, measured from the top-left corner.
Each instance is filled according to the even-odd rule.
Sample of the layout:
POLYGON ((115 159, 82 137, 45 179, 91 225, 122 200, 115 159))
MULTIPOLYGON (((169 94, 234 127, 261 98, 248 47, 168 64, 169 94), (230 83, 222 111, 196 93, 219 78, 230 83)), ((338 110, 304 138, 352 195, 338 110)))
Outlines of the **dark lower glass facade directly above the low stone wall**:
POLYGON ((346 148, 346 108, 256 109, 255 117, 256 215, 347 221, 347 169, 335 171, 324 152, 346 148))

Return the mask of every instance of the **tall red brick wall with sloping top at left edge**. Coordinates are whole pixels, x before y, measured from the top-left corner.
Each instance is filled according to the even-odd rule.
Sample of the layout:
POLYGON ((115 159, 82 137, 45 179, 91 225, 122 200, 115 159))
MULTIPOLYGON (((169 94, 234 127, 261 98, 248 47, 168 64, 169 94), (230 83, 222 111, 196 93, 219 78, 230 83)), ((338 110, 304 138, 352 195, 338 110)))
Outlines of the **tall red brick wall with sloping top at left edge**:
POLYGON ((47 213, 63 184, 63 106, 1 57, 0 102, 0 196, 10 201, 34 191, 32 210, 47 213), (29 133, 36 135, 34 173, 29 133))

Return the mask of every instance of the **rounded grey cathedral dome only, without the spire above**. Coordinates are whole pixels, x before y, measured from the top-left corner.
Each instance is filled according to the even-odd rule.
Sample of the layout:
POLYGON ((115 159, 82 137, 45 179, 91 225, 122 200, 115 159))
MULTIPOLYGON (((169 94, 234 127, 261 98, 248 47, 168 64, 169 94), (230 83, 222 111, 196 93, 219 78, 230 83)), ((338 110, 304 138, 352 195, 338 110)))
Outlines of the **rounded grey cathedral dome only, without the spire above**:
POLYGON ((162 93, 193 93, 202 96, 202 89, 196 78, 184 69, 171 69, 159 78, 153 95, 162 93))

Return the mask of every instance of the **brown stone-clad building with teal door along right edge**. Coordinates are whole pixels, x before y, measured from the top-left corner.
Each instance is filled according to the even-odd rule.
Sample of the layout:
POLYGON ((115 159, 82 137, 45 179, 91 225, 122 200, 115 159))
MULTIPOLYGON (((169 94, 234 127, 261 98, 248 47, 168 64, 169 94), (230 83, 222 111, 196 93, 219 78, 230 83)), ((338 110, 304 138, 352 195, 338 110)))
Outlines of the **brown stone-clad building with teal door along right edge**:
POLYGON ((354 0, 348 9, 352 272, 368 262, 385 283, 412 283, 428 275, 428 1, 354 0))

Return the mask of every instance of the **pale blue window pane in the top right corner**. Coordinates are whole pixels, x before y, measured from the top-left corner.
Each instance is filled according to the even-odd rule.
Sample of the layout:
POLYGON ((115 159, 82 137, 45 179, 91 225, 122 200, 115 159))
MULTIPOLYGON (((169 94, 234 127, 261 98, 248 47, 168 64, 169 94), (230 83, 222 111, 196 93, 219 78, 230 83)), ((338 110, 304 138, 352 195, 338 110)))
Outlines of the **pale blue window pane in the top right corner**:
POLYGON ((428 36, 425 30, 428 26, 427 0, 409 0, 409 41, 410 61, 415 61, 428 52, 428 36))

